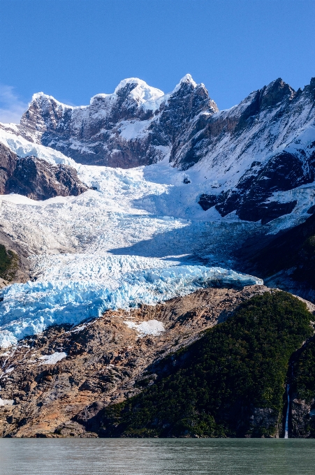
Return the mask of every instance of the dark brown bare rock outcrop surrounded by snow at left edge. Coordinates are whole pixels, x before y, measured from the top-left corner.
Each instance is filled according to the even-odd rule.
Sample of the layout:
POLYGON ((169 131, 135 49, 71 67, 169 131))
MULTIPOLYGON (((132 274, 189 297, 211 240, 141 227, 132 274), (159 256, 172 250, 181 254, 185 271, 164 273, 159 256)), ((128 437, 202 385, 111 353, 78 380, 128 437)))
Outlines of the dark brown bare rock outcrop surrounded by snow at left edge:
POLYGON ((87 191, 76 170, 51 165, 35 156, 19 158, 0 143, 0 194, 18 193, 33 200, 78 196, 87 191))

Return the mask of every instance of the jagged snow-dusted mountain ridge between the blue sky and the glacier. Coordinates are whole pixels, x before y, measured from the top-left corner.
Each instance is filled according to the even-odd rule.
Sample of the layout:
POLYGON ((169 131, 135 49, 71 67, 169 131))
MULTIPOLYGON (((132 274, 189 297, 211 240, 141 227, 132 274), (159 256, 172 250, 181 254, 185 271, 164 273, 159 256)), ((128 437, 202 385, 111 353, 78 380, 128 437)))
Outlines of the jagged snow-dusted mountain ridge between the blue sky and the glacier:
POLYGON ((315 78, 297 92, 278 78, 222 111, 190 75, 162 94, 138 78, 82 107, 34 94, 15 133, 78 163, 168 160, 186 170, 187 183, 191 173, 207 180, 197 201, 222 217, 265 224, 294 210, 298 200, 274 195, 315 180, 315 78))

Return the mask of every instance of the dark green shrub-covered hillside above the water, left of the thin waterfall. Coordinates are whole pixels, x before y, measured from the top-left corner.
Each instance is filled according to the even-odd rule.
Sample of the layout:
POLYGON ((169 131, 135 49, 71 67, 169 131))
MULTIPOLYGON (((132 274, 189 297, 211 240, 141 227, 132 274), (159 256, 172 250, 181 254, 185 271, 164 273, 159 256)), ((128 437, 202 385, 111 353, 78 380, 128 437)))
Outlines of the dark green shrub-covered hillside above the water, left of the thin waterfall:
POLYGON ((312 314, 291 294, 247 300, 188 348, 162 360, 139 395, 109 406, 101 437, 275 437, 288 364, 312 336, 312 314))

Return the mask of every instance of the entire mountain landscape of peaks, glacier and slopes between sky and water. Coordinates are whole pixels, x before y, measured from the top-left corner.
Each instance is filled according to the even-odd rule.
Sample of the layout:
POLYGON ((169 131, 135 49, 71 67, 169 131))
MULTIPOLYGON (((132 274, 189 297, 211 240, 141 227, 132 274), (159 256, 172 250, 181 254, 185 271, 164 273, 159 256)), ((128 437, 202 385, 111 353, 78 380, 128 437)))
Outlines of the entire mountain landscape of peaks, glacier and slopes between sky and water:
POLYGON ((284 437, 287 397, 315 437, 314 104, 129 78, 0 124, 2 437, 284 437))

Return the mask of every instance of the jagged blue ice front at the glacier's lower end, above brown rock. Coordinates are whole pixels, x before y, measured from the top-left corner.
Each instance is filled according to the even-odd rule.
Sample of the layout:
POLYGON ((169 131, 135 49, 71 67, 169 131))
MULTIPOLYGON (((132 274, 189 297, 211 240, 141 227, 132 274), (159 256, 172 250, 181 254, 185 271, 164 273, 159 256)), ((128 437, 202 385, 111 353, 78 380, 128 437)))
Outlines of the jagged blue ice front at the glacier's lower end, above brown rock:
POLYGON ((13 284, 1 291, 0 346, 16 344, 27 335, 41 333, 47 326, 100 316, 107 309, 128 309, 141 303, 155 304, 198 287, 221 284, 263 284, 261 279, 233 270, 203 265, 126 272, 118 286, 95 281, 39 281, 13 284))

